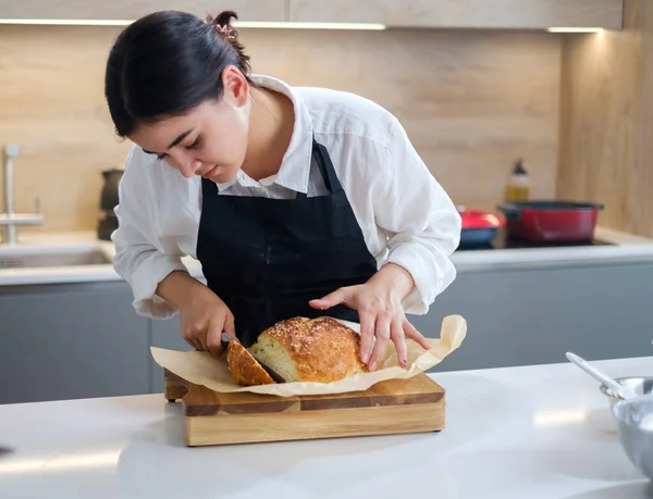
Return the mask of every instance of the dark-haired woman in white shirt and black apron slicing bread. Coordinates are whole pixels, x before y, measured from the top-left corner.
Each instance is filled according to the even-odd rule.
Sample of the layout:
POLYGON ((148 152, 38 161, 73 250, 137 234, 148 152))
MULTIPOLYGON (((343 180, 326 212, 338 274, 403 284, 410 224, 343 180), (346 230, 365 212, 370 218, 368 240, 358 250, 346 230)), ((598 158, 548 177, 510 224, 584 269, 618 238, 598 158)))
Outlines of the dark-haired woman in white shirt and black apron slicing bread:
POLYGON ((426 313, 453 282, 458 212, 387 111, 250 75, 233 17, 157 12, 109 55, 111 117, 134 142, 112 236, 134 307, 180 311, 186 341, 211 352, 223 330, 249 346, 329 314, 360 323, 370 370, 391 340, 405 366, 405 337, 429 348, 405 310, 426 313))

